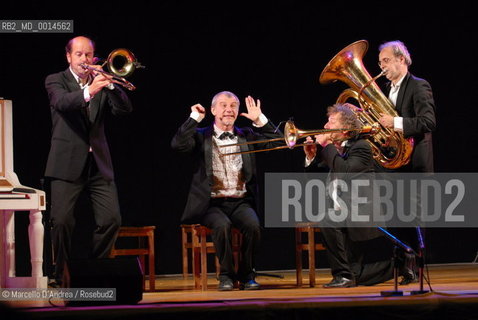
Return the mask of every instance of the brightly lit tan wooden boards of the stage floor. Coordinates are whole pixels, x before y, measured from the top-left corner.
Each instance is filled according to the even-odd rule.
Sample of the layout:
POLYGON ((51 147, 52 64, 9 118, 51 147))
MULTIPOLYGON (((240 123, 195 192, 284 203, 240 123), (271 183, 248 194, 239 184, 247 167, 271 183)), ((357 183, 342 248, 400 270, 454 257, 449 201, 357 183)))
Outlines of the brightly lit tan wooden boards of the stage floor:
MULTIPOLYGON (((436 292, 469 291, 478 294, 478 264, 446 264, 430 265, 429 275, 432 289, 436 292)), ((393 280, 375 286, 359 286, 355 288, 325 289, 323 284, 331 280, 330 269, 316 271, 316 286, 309 287, 308 271, 302 273, 302 288, 296 286, 295 270, 264 272, 284 276, 283 279, 260 276, 257 282, 262 290, 241 291, 235 289, 229 292, 217 291, 218 281, 214 275, 208 278, 208 291, 194 290, 192 278, 184 280, 182 276, 165 276, 157 278, 156 293, 144 293, 145 303, 151 302, 179 302, 179 301, 208 301, 254 298, 307 298, 317 296, 357 296, 380 295, 381 291, 393 290, 393 280)), ((405 295, 412 290, 418 290, 418 283, 399 286, 405 295)), ((425 282, 424 289, 430 290, 425 282)))

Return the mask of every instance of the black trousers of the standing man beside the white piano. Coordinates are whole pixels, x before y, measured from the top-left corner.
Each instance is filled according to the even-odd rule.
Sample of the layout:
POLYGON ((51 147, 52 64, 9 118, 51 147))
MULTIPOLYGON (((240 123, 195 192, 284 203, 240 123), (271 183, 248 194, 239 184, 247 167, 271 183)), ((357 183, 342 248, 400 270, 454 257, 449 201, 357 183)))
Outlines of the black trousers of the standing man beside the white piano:
POLYGON ((75 227, 75 206, 81 192, 86 191, 95 219, 90 258, 107 258, 121 226, 118 194, 114 182, 99 173, 90 153, 82 176, 77 181, 51 180, 51 238, 55 256, 55 278, 63 277, 65 262, 71 257, 75 227))

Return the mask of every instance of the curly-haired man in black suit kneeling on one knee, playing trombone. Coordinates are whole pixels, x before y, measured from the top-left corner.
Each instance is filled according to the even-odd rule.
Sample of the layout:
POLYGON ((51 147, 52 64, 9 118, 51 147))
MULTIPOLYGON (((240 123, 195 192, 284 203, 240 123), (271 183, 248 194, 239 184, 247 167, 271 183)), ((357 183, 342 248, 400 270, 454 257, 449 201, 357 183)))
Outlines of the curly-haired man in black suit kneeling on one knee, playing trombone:
MULTIPOLYGON (((315 136, 315 143, 307 137, 308 145, 304 146, 307 171, 328 170, 332 179, 349 177, 351 179, 370 179, 374 173, 372 149, 361 135, 353 134, 361 127, 353 110, 356 107, 345 103, 328 108, 328 122, 325 129, 348 129, 350 131, 326 133, 315 136), (318 148, 320 147, 320 154, 318 148)), ((334 183, 333 181, 331 183, 334 183)), ((367 203, 360 206, 368 213, 373 210, 371 196, 372 187, 366 189, 367 203)), ((337 190, 331 194, 330 207, 340 210, 337 190)), ((349 206, 350 197, 343 197, 343 202, 349 206)), ((356 285, 373 285, 393 278, 393 263, 385 259, 374 263, 366 263, 366 247, 368 241, 383 234, 373 227, 321 227, 321 235, 326 247, 327 259, 333 279, 324 285, 325 288, 344 288, 356 285)), ((408 257, 407 257, 408 258, 408 257)), ((400 275, 404 279, 413 277, 413 272, 407 267, 405 257, 401 257, 400 275)), ((403 281, 403 280, 402 280, 403 281)))

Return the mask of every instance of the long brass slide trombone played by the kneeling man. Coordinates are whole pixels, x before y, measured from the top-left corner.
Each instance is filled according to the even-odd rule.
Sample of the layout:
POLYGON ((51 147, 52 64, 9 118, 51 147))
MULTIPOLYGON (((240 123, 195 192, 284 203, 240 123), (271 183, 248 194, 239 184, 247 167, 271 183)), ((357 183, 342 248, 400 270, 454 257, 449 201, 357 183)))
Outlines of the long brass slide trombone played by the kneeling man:
POLYGON ((306 145, 310 145, 311 143, 300 143, 297 144, 297 140, 305 138, 307 136, 315 136, 319 134, 327 134, 333 132, 355 132, 356 134, 366 134, 366 135, 375 135, 380 130, 380 125, 378 123, 374 123, 373 125, 363 126, 357 129, 318 129, 318 130, 300 130, 298 129, 292 120, 289 120, 285 124, 284 128, 284 137, 283 138, 275 138, 275 139, 268 139, 268 140, 258 140, 258 141, 247 141, 244 143, 233 143, 233 144, 226 144, 219 146, 220 148, 226 147, 235 147, 235 146, 243 146, 243 145, 250 145, 250 144, 259 144, 259 143, 267 143, 273 141, 280 141, 284 140, 284 146, 278 146, 268 149, 259 149, 259 150, 248 150, 248 151, 238 151, 238 152, 231 152, 231 153, 222 153, 221 157, 230 156, 235 154, 249 154, 249 153, 257 153, 257 152, 264 152, 264 151, 272 151, 272 150, 280 150, 280 149, 294 149, 295 147, 302 147, 306 145))

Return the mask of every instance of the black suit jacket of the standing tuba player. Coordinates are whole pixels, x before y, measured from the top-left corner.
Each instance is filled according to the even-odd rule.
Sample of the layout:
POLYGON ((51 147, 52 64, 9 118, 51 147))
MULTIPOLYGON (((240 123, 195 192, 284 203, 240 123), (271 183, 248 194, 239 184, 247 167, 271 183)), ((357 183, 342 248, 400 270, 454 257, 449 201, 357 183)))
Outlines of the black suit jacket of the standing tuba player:
MULTIPOLYGON (((388 96, 391 83, 384 90, 388 96)), ((415 146, 410 164, 403 171, 433 172, 432 131, 436 127, 435 102, 430 84, 407 73, 398 91, 395 106, 403 117, 403 134, 405 138, 413 137, 415 146)))

